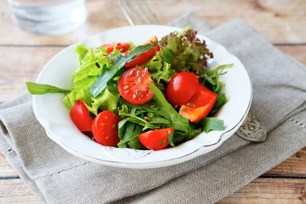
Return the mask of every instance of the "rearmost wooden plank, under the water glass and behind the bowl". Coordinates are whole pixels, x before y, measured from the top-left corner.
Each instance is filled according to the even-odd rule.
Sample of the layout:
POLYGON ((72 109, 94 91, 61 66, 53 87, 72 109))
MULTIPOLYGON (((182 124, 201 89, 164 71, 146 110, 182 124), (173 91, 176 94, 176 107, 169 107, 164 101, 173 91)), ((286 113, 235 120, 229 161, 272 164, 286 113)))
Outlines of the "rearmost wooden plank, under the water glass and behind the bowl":
MULTIPOLYGON (((163 1, 147 0, 161 24, 167 24, 186 12, 202 20, 221 25, 233 19, 243 19, 274 43, 306 42, 306 1, 304 0, 233 0, 233 1, 163 1), (169 11, 171 8, 171 11, 169 11), (175 11, 175 12, 174 12, 175 11)), ((0 0, 0 44, 72 44, 88 36, 115 27, 129 25, 117 1, 86 1, 89 15, 79 29, 61 36, 38 36, 16 28, 9 6, 0 0), (104 12, 112 11, 112 12, 104 12), (9 35, 8 35, 9 34, 9 35)))

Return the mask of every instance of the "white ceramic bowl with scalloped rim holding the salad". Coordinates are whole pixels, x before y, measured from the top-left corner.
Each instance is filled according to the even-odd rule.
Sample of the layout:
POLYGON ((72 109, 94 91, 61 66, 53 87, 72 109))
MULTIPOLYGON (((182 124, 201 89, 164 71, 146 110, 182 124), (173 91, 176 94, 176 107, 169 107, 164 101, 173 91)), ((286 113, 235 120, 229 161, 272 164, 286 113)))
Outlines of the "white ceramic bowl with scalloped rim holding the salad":
MULTIPOLYGON (((182 29, 163 25, 139 25, 109 30, 92 36, 83 43, 87 47, 97 47, 110 42, 129 42, 142 44, 149 37, 158 39, 173 31, 182 29)), ((224 120, 224 131, 201 133, 190 141, 176 147, 159 151, 134 150, 100 145, 83 135, 69 117, 69 110, 62 103, 64 94, 34 95, 33 108, 38 121, 43 125, 49 138, 61 145, 71 154, 82 159, 126 168, 157 168, 185 162, 217 148, 232 136, 244 121, 251 104, 252 87, 248 74, 241 62, 222 45, 198 35, 207 42, 214 59, 208 69, 219 65, 234 63, 228 68, 220 81, 225 83, 223 92, 228 102, 216 117, 224 120)), ((78 58, 74 52, 76 44, 70 45, 58 53, 41 70, 37 83, 49 84, 64 89, 72 87, 72 73, 78 69, 78 58)))

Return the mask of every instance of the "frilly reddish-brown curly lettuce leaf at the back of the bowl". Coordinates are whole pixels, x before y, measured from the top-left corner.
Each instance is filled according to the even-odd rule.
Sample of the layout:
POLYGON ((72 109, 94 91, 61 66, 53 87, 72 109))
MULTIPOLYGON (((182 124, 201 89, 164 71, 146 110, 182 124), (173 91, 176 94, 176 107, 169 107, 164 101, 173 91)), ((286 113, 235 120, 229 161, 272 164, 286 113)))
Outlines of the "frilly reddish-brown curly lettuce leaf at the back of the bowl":
POLYGON ((176 71, 188 69, 199 73, 207 65, 207 59, 213 58, 205 40, 201 41, 196 34, 196 31, 187 27, 181 33, 170 33, 160 40, 161 52, 165 56, 171 52, 170 63, 176 71))

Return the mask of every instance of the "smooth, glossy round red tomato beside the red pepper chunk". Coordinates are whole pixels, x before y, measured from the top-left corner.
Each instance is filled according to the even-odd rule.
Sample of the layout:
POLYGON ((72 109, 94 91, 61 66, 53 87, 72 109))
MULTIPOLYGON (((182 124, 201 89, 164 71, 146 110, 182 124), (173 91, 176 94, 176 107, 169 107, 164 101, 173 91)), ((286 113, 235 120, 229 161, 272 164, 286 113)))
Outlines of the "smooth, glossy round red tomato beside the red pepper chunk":
POLYGON ((198 89, 198 78, 194 73, 183 71, 175 74, 168 83, 166 95, 172 106, 187 105, 198 89))

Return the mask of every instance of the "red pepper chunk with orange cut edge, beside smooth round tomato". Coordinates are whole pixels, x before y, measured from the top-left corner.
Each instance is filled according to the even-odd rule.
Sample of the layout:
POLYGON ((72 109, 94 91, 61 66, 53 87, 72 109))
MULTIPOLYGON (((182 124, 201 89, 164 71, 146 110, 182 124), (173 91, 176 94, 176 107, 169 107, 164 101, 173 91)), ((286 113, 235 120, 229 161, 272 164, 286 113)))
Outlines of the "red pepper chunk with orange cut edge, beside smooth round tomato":
POLYGON ((213 109, 218 94, 209 90, 206 86, 199 84, 197 92, 191 97, 188 103, 195 107, 183 105, 180 109, 180 115, 189 119, 190 122, 198 122, 205 118, 213 109))

